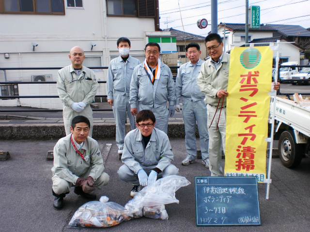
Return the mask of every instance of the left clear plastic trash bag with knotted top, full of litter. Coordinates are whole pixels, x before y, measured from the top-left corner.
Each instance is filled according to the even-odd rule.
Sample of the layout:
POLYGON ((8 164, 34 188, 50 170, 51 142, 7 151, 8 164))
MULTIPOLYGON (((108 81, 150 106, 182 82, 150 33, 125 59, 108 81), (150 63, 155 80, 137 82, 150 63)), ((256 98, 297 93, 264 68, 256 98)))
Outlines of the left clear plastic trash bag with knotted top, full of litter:
POLYGON ((127 217, 127 210, 115 202, 108 202, 106 196, 98 201, 83 204, 71 218, 68 227, 110 227, 115 226, 127 217))

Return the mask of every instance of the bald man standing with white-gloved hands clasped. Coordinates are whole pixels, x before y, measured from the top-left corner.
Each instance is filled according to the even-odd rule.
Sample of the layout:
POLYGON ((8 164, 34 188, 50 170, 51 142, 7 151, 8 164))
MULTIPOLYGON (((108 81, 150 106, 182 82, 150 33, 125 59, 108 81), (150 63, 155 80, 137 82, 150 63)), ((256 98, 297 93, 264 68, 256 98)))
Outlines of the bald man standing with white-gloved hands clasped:
POLYGON ((70 134, 71 121, 75 116, 85 116, 91 123, 89 136, 93 133, 93 111, 90 103, 97 92, 98 82, 89 68, 82 66, 84 51, 79 46, 71 48, 71 65, 58 71, 57 90, 63 102, 63 123, 66 135, 70 134))

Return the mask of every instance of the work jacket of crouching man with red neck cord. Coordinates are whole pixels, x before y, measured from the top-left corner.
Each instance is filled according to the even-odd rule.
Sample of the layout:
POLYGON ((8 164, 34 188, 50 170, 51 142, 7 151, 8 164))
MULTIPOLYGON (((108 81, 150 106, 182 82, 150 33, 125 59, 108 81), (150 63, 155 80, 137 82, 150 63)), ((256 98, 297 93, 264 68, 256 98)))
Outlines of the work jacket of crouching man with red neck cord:
POLYGON ((54 167, 52 167, 53 175, 55 174, 75 185, 78 177, 87 173, 89 169, 91 169, 89 175, 93 177, 94 181, 96 181, 105 169, 97 141, 91 137, 86 138, 84 144, 79 150, 82 154, 85 150, 85 160, 83 160, 75 151, 71 143, 71 135, 72 133, 61 138, 54 146, 54 167))

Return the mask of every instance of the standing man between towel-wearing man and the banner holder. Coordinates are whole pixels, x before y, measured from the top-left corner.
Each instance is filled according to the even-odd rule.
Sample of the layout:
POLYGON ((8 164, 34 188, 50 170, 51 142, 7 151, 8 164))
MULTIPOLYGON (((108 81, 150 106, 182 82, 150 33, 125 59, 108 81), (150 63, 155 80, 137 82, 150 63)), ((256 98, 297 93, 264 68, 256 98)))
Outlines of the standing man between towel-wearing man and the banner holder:
POLYGON ((207 127, 207 106, 204 94, 197 85, 197 76, 204 61, 200 59, 202 54, 197 43, 189 43, 186 48, 186 56, 190 60, 183 64, 175 81, 175 110, 180 112, 180 99, 183 96, 182 114, 185 127, 186 158, 183 165, 196 162, 196 121, 198 124, 200 148, 202 151, 202 164, 209 168, 209 135, 207 127))

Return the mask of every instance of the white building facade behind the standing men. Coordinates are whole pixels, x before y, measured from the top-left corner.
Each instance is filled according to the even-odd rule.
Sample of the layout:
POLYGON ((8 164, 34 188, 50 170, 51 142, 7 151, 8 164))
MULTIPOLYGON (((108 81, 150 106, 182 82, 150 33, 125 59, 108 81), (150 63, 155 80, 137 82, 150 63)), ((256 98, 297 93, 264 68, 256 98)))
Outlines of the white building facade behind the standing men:
MULTIPOLYGON (((149 36, 171 37, 160 31, 158 14, 158 0, 0 0, 0 67, 65 67, 76 45, 85 51, 84 66, 107 67, 119 56, 116 41, 123 36, 131 41, 130 55, 143 61, 149 36)), ((57 71, 0 70, 0 81, 56 81, 57 71)), ((106 69, 94 72, 106 81, 106 69)), ((27 85, 18 85, 20 96, 57 95, 56 84, 27 85)), ((0 94, 8 94, 3 85, 0 94)), ((105 84, 97 95, 106 95, 105 84)), ((60 99, 0 100, 0 105, 16 104, 62 108, 60 99)))

